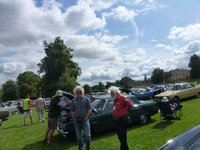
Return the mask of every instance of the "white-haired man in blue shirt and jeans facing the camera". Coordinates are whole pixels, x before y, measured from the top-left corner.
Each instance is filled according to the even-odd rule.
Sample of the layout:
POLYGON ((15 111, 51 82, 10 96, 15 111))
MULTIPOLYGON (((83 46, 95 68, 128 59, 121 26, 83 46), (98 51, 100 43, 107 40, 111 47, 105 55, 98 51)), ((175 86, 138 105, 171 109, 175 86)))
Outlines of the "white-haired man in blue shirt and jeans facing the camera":
POLYGON ((89 116, 92 112, 90 100, 84 95, 84 89, 81 86, 74 88, 76 97, 71 103, 72 118, 74 120, 74 127, 76 130, 78 149, 83 150, 82 130, 85 133, 86 150, 90 150, 91 131, 89 116))

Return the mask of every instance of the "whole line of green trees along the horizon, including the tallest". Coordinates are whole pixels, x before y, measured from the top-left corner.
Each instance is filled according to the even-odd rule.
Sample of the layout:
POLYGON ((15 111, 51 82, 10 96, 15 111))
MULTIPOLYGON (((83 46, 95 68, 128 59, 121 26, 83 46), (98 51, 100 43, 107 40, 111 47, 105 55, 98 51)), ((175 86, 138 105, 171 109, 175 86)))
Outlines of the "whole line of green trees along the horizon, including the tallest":
MULTIPOLYGON (((44 97, 51 97, 55 91, 61 89, 72 93, 73 89, 79 83, 78 77, 81 74, 81 68, 72 60, 73 49, 67 47, 60 37, 56 37, 54 42, 47 43, 43 41, 44 52, 46 56, 38 63, 38 74, 32 71, 20 73, 16 81, 8 80, 0 89, 0 101, 16 100, 30 95, 37 98, 42 94, 44 97)), ((191 79, 200 79, 200 56, 194 54, 191 56, 188 66, 191 79)), ((165 72, 163 69, 155 68, 151 78, 147 79, 144 75, 144 81, 136 81, 130 77, 122 77, 115 82, 106 82, 104 85, 99 82, 97 85, 90 86, 85 84, 83 87, 85 93, 99 92, 108 89, 110 86, 122 88, 132 88, 144 82, 153 84, 163 83, 165 72)))

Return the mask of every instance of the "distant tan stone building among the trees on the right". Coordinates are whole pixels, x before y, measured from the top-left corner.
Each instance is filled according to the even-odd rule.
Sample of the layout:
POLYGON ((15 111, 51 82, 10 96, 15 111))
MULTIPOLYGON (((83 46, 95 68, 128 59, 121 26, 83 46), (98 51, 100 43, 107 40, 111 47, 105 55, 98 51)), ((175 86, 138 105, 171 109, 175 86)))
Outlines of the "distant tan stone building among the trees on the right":
POLYGON ((165 72, 166 82, 182 82, 188 81, 190 77, 190 70, 176 69, 169 72, 165 72))

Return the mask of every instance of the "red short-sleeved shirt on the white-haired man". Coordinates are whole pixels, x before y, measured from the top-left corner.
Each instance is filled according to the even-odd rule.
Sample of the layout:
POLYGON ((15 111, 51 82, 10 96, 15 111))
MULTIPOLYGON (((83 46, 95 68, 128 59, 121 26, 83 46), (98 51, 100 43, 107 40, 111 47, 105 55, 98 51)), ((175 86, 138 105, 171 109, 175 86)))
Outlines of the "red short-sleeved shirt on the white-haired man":
POLYGON ((112 111, 112 115, 114 120, 118 120, 123 116, 126 116, 129 114, 128 112, 128 107, 132 104, 132 102, 124 97, 121 94, 118 94, 116 100, 114 100, 113 102, 113 111, 112 111))

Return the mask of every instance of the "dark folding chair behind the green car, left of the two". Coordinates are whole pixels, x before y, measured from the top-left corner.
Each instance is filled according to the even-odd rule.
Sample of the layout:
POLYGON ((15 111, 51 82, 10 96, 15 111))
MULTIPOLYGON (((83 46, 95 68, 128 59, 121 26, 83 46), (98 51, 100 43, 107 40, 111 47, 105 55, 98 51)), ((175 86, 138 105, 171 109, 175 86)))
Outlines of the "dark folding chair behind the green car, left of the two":
POLYGON ((175 120, 177 115, 175 111, 171 109, 169 102, 156 102, 160 110, 160 121, 163 119, 166 120, 175 120))

